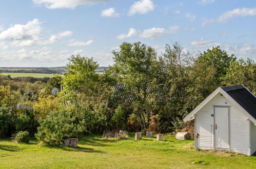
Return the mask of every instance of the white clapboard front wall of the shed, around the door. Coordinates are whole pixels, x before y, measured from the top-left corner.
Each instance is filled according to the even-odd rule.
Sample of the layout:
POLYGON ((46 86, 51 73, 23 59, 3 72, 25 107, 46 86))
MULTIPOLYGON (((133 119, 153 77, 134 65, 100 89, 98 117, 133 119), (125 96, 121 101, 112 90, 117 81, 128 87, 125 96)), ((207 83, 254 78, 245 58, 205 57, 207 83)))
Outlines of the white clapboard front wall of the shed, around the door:
POLYGON ((213 97, 196 113, 195 134, 199 133, 199 149, 213 149, 213 105, 230 105, 230 151, 249 154, 249 123, 246 116, 221 94, 213 97), (226 103, 225 103, 226 102, 226 103))

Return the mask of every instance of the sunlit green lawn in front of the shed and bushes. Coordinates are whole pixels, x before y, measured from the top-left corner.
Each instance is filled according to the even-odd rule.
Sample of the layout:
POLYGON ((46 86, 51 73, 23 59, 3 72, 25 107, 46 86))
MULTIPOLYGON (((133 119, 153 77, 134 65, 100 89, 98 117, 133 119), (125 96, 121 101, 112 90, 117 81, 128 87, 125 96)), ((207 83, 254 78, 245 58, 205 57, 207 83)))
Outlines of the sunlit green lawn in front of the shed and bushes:
POLYGON ((77 148, 39 146, 36 140, 16 144, 0 140, 0 168, 256 168, 256 157, 196 151, 193 140, 165 136, 134 140, 89 135, 77 148))

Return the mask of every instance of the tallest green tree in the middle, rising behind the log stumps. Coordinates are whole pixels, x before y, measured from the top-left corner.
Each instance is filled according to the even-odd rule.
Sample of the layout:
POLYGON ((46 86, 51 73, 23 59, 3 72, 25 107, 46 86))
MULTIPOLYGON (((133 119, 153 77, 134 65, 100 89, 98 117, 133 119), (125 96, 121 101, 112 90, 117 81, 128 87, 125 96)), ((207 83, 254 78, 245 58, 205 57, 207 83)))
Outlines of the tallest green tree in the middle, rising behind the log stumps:
POLYGON ((152 90, 148 90, 155 79, 157 67, 157 54, 152 47, 145 44, 123 43, 120 51, 113 51, 114 64, 110 72, 123 82, 128 88, 128 95, 136 93, 131 105, 137 117, 141 118, 141 128, 147 129, 148 118, 152 112, 149 104, 149 96, 152 90), (143 125, 143 126, 142 126, 143 125))

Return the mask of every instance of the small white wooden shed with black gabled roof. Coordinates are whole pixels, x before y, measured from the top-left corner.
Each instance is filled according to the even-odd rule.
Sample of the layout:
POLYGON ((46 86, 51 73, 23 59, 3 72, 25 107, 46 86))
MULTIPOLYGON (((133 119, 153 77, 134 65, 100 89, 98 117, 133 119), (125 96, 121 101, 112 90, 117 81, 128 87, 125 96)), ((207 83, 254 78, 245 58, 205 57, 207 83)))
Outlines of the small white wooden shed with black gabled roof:
POLYGON ((192 119, 198 149, 256 152, 256 96, 243 85, 216 89, 183 120, 192 119))

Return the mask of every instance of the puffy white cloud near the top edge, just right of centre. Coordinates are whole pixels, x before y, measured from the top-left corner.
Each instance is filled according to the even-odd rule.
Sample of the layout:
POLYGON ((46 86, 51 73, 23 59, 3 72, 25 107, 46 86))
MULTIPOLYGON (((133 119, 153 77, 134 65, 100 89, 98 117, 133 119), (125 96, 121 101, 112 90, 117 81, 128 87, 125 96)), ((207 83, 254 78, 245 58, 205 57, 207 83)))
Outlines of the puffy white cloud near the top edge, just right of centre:
POLYGON ((138 1, 138 2, 135 2, 134 4, 132 4, 132 6, 130 7, 128 15, 131 16, 131 15, 134 15, 136 13, 145 14, 145 13, 148 13, 149 11, 153 11, 154 8, 155 8, 155 5, 150 0, 138 1))

